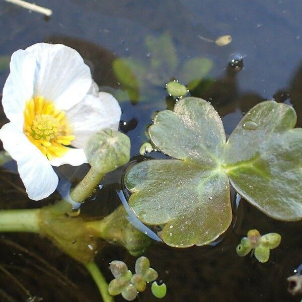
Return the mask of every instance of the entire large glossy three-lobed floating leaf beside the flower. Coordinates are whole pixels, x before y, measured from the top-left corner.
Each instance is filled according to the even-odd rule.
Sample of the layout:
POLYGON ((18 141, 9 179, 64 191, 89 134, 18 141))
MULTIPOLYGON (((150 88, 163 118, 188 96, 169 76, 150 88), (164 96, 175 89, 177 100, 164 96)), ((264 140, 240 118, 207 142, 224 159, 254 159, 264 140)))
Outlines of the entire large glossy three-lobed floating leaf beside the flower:
POLYGON ((205 245, 232 220, 234 188, 269 216, 302 218, 302 130, 292 107, 266 101, 252 108, 228 142, 220 117, 205 100, 184 98, 158 113, 148 129, 153 144, 174 159, 132 166, 129 205, 144 223, 164 225, 175 247, 205 245))

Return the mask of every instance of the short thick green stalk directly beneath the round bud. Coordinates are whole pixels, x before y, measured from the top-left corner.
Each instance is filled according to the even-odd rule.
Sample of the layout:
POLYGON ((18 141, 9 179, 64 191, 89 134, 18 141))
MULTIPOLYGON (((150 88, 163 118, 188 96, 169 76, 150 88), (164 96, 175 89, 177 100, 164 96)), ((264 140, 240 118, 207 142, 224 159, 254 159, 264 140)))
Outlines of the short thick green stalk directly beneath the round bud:
POLYGON ((75 202, 83 202, 93 193, 103 177, 104 174, 100 174, 100 172, 91 167, 82 181, 71 190, 70 198, 75 202))

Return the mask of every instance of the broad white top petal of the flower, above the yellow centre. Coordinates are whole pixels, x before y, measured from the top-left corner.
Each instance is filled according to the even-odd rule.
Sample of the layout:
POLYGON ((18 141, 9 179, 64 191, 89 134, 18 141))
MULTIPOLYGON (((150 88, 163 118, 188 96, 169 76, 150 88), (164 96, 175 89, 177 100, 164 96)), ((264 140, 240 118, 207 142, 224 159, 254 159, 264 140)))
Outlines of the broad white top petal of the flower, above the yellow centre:
POLYGON ((78 51, 61 44, 38 43, 26 51, 37 61, 35 95, 53 101, 61 110, 79 103, 91 87, 90 68, 78 51))

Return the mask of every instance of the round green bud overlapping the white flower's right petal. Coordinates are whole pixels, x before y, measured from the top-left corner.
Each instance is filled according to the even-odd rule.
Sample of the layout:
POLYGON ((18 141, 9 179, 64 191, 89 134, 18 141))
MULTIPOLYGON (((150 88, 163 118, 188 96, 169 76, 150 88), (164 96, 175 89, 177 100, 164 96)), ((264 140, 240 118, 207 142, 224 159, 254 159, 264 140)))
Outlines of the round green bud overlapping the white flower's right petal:
POLYGON ((89 138, 85 154, 89 164, 105 174, 129 161, 130 139, 121 132, 104 129, 89 138))

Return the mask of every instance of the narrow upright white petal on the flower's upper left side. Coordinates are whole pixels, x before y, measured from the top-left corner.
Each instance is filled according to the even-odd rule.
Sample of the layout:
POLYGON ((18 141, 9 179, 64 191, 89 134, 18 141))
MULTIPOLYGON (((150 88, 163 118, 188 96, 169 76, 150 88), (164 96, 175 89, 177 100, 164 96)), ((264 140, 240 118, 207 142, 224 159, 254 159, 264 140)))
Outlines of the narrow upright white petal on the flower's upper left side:
POLYGON ((33 96, 36 61, 25 50, 13 53, 11 72, 4 85, 2 104, 6 116, 22 130, 25 102, 33 96))

